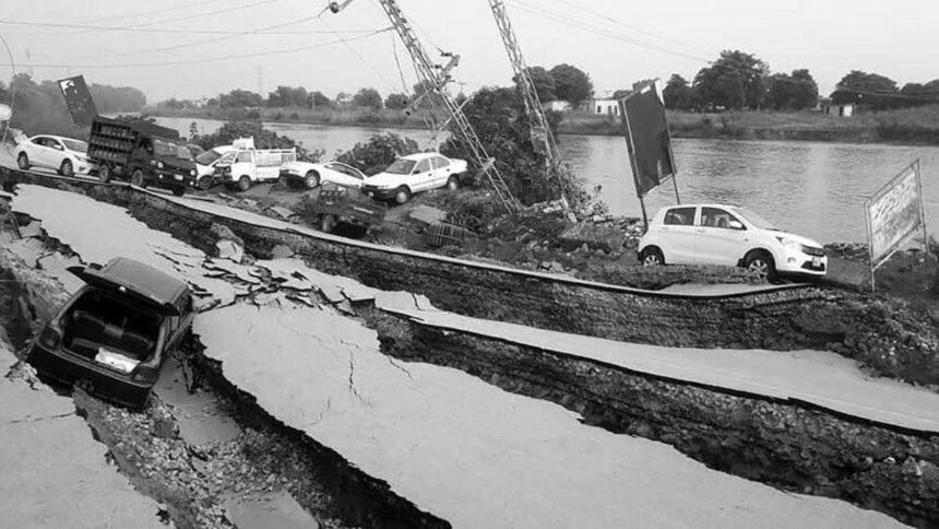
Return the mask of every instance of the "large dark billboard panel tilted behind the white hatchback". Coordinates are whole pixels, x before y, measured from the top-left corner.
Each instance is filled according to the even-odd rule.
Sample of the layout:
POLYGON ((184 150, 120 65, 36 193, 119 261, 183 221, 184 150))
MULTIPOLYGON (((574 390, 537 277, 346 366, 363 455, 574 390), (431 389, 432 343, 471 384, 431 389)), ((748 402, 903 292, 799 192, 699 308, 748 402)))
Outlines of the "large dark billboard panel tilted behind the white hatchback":
POLYGON ((647 83, 620 99, 619 108, 635 193, 643 198, 676 172, 658 82, 647 83))

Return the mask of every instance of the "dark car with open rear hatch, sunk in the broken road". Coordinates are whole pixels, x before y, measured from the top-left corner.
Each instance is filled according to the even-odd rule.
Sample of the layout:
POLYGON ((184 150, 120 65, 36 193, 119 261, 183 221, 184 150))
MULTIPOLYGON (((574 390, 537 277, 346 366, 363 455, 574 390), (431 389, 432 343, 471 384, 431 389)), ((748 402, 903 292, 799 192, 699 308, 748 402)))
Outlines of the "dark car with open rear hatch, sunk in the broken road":
POLYGON ((189 286, 127 258, 69 271, 86 284, 46 324, 26 362, 43 376, 142 408, 164 361, 188 345, 189 286))

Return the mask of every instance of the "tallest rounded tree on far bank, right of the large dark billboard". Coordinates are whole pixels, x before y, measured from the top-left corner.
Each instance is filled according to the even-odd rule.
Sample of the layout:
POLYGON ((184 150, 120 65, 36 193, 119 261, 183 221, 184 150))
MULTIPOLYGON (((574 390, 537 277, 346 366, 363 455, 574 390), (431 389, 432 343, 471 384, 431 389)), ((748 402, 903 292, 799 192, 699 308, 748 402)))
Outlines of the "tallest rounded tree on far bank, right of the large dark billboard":
POLYGON ((691 90, 704 108, 760 108, 769 72, 769 66, 751 54, 724 50, 710 67, 698 72, 691 90))

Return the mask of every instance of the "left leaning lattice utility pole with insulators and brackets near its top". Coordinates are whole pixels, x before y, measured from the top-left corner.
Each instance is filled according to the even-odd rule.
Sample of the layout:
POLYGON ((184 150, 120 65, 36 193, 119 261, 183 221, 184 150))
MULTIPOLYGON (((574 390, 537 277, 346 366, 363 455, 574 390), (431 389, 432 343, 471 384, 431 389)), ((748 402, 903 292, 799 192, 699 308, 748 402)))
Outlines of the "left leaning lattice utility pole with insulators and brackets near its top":
MULTIPOLYGON (((342 3, 331 2, 330 10, 333 13, 338 13, 350 2, 352 0, 345 0, 342 3)), ((489 153, 486 152, 486 148, 483 146, 483 142, 479 141, 479 137, 476 136, 476 131, 473 130, 473 127, 470 125, 470 120, 466 118, 466 115, 463 114, 463 109, 445 90, 447 83, 452 80, 450 70, 460 62, 460 56, 444 54, 444 56, 450 59, 447 66, 436 64, 415 36, 411 24, 397 7, 397 2, 394 0, 379 0, 379 3, 388 15, 388 19, 391 21, 395 32, 397 32, 397 36, 401 37, 401 42, 404 43, 404 47, 407 48, 407 52, 411 55, 411 60, 414 62, 414 69, 417 72, 419 81, 421 81, 421 85, 426 91, 432 91, 433 95, 444 104, 448 113, 450 114, 450 120, 455 125, 457 137, 463 140, 470 149, 475 162, 482 167, 483 174, 486 175, 486 178, 496 191, 496 196, 499 198, 499 201, 502 202, 502 205, 504 205, 510 213, 515 213, 520 207, 518 199, 515 199, 512 191, 509 190, 509 187, 506 185, 506 180, 502 178, 499 169, 496 168, 495 158, 489 156, 489 153)), ((429 96, 430 94, 427 95, 429 96)))

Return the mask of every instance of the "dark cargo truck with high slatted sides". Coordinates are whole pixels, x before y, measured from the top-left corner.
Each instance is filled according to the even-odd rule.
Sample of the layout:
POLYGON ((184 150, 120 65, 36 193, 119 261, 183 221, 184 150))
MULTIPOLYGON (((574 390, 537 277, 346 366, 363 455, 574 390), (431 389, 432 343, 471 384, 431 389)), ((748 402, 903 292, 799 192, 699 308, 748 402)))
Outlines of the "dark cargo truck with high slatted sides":
POLYGON ((130 179, 139 187, 162 187, 181 196, 195 187, 192 152, 179 132, 146 121, 122 121, 98 116, 88 137, 88 158, 98 165, 98 178, 130 179))

